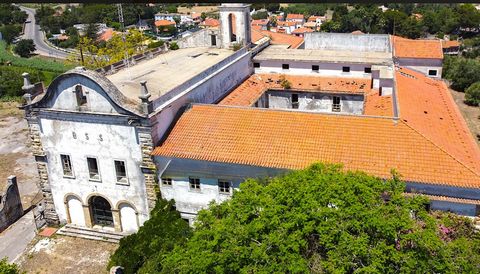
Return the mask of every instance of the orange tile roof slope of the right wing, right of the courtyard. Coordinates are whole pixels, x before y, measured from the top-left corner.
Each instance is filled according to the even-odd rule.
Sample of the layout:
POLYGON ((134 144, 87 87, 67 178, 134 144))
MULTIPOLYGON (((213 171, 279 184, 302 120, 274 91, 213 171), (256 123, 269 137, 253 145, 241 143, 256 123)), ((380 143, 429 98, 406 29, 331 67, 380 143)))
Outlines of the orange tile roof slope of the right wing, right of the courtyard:
POLYGON ((480 173, 480 149, 443 81, 399 68, 400 118, 458 161, 480 173))

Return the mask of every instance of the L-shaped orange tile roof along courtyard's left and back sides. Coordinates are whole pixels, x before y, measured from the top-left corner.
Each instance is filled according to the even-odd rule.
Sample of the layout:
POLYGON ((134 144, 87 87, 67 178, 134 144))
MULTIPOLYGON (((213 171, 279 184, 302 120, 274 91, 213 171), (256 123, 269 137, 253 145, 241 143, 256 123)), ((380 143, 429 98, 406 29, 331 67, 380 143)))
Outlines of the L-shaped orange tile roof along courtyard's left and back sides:
MULTIPOLYGON (((292 90, 309 92, 335 92, 364 94, 374 90, 370 79, 283 75, 292 90)), ((251 106, 267 89, 283 89, 279 74, 253 74, 219 104, 231 106, 251 106)), ((378 93, 378 90, 376 91, 378 93)))

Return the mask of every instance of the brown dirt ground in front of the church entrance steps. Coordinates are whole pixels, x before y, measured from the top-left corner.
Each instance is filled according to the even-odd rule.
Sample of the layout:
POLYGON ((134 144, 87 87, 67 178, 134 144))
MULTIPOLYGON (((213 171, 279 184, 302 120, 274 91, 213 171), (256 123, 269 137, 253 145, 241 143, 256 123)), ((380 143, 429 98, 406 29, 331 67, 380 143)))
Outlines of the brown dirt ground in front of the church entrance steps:
POLYGON ((108 259, 117 247, 68 236, 37 237, 17 263, 27 273, 108 273, 108 259))

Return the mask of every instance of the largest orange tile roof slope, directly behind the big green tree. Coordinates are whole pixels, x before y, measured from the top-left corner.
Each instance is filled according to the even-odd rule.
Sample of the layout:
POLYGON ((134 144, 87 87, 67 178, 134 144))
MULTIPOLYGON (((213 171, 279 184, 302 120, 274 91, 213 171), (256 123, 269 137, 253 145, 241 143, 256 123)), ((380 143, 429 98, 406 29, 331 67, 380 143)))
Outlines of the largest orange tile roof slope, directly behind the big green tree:
POLYGON ((403 121, 353 115, 193 105, 153 155, 301 169, 342 163, 409 182, 480 187, 480 176, 403 121))

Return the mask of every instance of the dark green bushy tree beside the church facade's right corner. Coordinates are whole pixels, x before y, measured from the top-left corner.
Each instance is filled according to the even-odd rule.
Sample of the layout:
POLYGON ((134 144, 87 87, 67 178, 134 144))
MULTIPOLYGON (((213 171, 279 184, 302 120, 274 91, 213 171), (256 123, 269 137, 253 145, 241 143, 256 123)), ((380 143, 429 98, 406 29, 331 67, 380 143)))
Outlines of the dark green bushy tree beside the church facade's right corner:
POLYGON ((137 273, 146 262, 144 268, 161 267, 163 254, 184 243, 190 235, 191 229, 175 210, 174 201, 159 198, 150 219, 138 232, 120 240, 120 246, 110 257, 108 268, 120 265, 128 274, 137 273))

